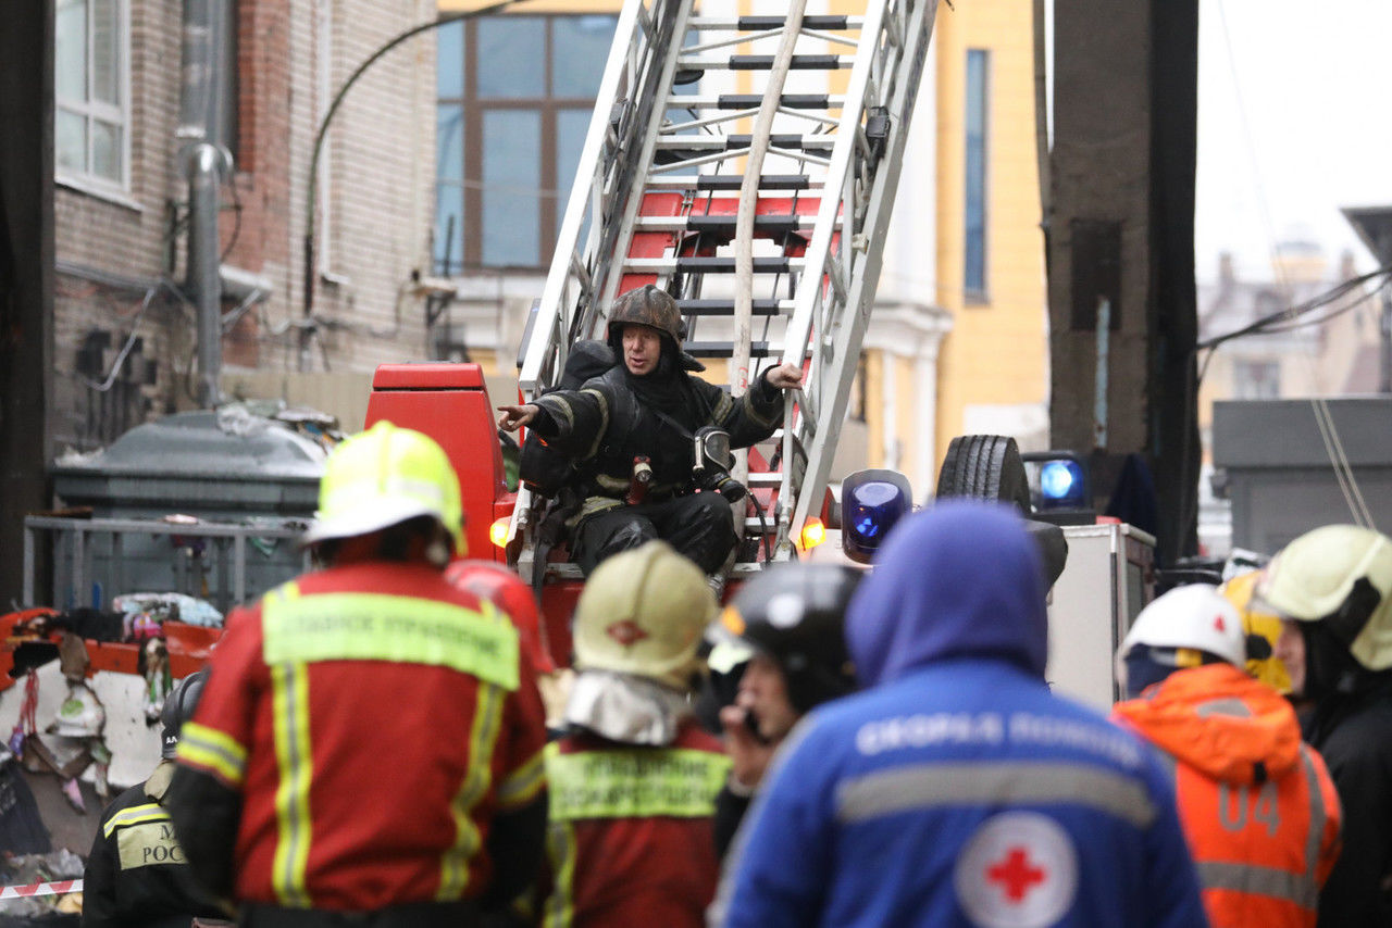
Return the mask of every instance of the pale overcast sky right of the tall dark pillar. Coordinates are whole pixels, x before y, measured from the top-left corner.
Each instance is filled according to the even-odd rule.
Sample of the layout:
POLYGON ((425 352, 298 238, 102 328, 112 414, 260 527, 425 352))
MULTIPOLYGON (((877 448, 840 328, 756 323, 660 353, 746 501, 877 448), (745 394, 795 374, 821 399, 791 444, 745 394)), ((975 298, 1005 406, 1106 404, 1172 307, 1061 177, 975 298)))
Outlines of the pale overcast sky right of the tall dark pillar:
POLYGON ((1375 266, 1339 207, 1392 206, 1389 47, 1392 0, 1200 0, 1200 280, 1224 250, 1263 277, 1288 238, 1375 266))

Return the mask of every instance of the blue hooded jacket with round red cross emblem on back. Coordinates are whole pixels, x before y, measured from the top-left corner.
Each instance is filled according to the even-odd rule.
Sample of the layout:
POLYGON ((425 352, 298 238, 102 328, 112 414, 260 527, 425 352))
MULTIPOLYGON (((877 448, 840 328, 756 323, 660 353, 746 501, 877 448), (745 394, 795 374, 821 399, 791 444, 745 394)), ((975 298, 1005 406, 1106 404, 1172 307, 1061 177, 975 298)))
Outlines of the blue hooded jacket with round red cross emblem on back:
POLYGON ((789 736, 727 858, 725 925, 1205 925, 1151 751, 1044 683, 1012 511, 903 520, 846 614, 870 689, 789 736))

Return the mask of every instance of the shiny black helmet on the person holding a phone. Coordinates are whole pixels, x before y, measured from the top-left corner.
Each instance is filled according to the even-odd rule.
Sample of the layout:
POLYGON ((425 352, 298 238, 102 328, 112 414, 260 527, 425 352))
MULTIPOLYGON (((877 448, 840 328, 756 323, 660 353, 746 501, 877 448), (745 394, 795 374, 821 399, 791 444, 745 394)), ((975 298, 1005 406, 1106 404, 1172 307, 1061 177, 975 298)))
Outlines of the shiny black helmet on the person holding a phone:
POLYGON ((784 673, 798 712, 856 689, 844 636, 860 573, 837 563, 786 563, 750 580, 721 623, 784 673))

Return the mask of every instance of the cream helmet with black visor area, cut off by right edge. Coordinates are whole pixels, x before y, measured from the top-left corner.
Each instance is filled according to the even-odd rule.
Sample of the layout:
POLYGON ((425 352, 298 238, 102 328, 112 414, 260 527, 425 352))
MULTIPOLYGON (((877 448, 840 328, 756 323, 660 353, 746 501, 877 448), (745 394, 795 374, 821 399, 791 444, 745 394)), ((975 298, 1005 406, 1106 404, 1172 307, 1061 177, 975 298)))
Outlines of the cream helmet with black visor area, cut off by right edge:
POLYGON ((1296 622, 1322 622, 1368 671, 1392 668, 1392 538, 1332 525, 1307 531, 1263 572, 1257 598, 1296 622))

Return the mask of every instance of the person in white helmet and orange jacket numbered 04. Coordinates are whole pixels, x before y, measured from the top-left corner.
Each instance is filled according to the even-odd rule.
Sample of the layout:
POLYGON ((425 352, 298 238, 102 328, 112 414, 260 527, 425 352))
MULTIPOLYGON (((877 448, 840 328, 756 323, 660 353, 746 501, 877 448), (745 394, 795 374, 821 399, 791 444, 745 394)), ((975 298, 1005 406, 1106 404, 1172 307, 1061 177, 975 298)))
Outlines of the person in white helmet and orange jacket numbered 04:
POLYGON ((1214 928, 1314 928, 1339 856, 1339 796, 1290 704, 1247 676, 1242 616, 1214 587, 1141 609, 1118 653, 1116 717, 1172 758, 1214 928))

